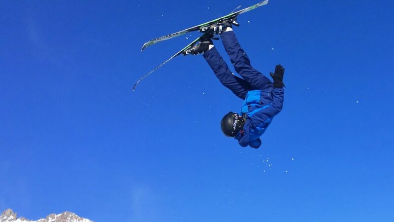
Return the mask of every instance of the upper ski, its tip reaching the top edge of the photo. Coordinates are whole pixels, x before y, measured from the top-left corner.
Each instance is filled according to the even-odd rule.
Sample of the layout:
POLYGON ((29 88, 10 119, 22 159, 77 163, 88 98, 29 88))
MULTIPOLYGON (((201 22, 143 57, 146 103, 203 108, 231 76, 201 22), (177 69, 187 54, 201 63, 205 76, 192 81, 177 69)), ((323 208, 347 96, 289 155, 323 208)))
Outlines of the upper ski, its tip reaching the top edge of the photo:
POLYGON ((263 5, 266 5, 266 4, 268 4, 268 0, 263 0, 262 2, 259 2, 259 3, 257 3, 257 4, 254 4, 254 5, 249 6, 249 7, 247 7, 247 8, 241 9, 241 10, 239 10, 239 11, 232 12, 232 13, 230 13, 230 14, 228 14, 228 15, 225 15, 225 16, 223 16, 223 17, 214 19, 214 20, 212 20, 212 21, 209 21, 209 22, 206 22, 206 23, 202 23, 202 24, 199 24, 199 25, 197 25, 197 26, 193 26, 193 27, 191 27, 191 28, 189 28, 189 29, 185 29, 185 30, 182 30, 182 31, 179 31, 179 32, 176 32, 176 33, 172 33, 172 34, 166 35, 166 36, 154 38, 154 39, 152 39, 152 40, 150 40, 150 41, 147 41, 147 42, 142 46, 141 51, 143 51, 145 48, 147 48, 147 47, 149 47, 149 46, 151 46, 151 45, 154 45, 154 44, 156 44, 156 43, 158 43, 158 42, 161 42, 161 41, 164 41, 164 40, 167 40, 167 39, 170 39, 170 38, 182 36, 182 35, 185 35, 185 34, 187 34, 187 33, 193 32, 193 31, 197 31, 197 30, 199 30, 199 29, 202 28, 202 27, 211 26, 211 25, 213 25, 213 24, 215 24, 215 23, 218 23, 218 22, 221 22, 221 21, 223 21, 223 20, 228 20, 228 19, 235 18, 235 17, 237 17, 238 15, 240 15, 240 14, 242 14, 242 13, 248 12, 248 11, 250 11, 250 10, 253 10, 253 9, 257 8, 257 7, 260 7, 260 6, 263 6, 263 5))

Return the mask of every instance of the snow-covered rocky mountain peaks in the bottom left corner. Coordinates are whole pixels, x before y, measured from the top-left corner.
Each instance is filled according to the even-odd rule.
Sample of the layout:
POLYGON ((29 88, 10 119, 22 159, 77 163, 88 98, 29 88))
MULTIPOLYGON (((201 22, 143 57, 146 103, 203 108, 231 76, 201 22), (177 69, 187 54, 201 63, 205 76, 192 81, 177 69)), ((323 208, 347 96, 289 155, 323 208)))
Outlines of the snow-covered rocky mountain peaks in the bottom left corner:
POLYGON ((26 218, 18 218, 16 213, 11 209, 5 210, 0 215, 0 222, 93 222, 85 218, 80 218, 78 215, 71 212, 64 212, 62 214, 50 214, 44 219, 37 221, 30 221, 26 218))

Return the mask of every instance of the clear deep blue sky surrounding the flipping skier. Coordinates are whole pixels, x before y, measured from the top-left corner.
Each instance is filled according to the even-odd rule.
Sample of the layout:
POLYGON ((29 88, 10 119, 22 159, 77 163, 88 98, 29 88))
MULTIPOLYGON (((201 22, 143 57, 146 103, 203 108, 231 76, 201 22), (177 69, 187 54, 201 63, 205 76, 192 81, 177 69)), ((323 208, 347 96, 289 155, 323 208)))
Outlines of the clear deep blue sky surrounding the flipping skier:
POLYGON ((239 16, 252 65, 286 68, 284 109, 259 149, 222 135, 242 101, 201 56, 131 92, 199 34, 140 52, 144 42, 257 1, 1 1, 0 211, 394 221, 393 1, 270 0, 239 16))

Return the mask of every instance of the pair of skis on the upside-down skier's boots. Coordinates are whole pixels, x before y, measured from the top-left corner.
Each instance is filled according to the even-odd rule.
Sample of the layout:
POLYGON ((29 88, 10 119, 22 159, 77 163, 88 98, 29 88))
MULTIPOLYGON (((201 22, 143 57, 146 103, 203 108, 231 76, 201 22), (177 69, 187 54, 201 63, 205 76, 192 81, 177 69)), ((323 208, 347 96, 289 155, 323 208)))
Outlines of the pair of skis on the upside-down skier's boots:
MULTIPOLYGON (((209 21, 209 22, 206 22, 206 23, 203 23, 203 24, 200 24, 200 25, 191 27, 191 28, 189 28, 189 29, 185 29, 185 30, 182 30, 182 31, 173 33, 173 34, 169 34, 169 35, 166 35, 166 36, 163 36, 163 37, 154 38, 154 39, 152 39, 152 40, 150 40, 150 41, 147 41, 147 42, 142 46, 141 51, 143 51, 145 48, 147 48, 147 47, 149 47, 149 46, 151 46, 151 45, 154 45, 154 44, 156 44, 156 43, 158 43, 158 42, 161 42, 161 41, 164 41, 164 40, 168 40, 168 39, 173 38, 173 37, 182 36, 182 35, 185 35, 185 34, 190 33, 190 32, 199 31, 200 29, 202 29, 202 28, 204 28, 204 27, 212 26, 212 25, 214 25, 214 24, 217 24, 217 23, 220 23, 220 22, 229 20, 229 19, 235 19, 238 15, 240 15, 240 14, 242 14, 242 13, 245 13, 245 12, 248 12, 248 11, 251 11, 251 10, 257 8, 257 7, 266 5, 267 3, 268 3, 268 0, 263 0, 262 2, 259 2, 259 3, 257 3, 257 4, 254 4, 254 5, 250 6, 250 7, 241 9, 241 10, 239 10, 239 11, 231 12, 231 13, 228 14, 228 15, 225 15, 225 16, 223 16, 223 17, 214 19, 214 20, 212 20, 212 21, 209 21)), ((148 74, 143 75, 143 76, 142 76, 140 79, 138 79, 138 81, 134 84, 134 86, 132 87, 132 91, 135 90, 135 87, 138 85, 138 83, 139 83, 142 79, 146 78, 148 75, 150 75, 150 74, 152 74, 153 72, 155 72, 156 70, 160 69, 160 68, 161 68, 162 66, 164 66, 167 62, 169 62, 171 59, 173 59, 173 58, 177 57, 178 55, 182 54, 182 52, 184 52, 185 50, 191 49, 198 41, 200 41, 203 37, 205 37, 205 35, 207 35, 207 34, 203 34, 202 36, 196 38, 194 41, 192 41, 190 44, 188 44, 187 46, 185 46, 183 49, 181 49, 181 50, 180 50, 179 52, 177 52, 175 55, 171 56, 171 57, 170 57, 169 59, 167 59, 164 63, 162 63, 161 65, 159 65, 158 67, 156 67, 154 70, 152 70, 152 71, 149 72, 148 74)))

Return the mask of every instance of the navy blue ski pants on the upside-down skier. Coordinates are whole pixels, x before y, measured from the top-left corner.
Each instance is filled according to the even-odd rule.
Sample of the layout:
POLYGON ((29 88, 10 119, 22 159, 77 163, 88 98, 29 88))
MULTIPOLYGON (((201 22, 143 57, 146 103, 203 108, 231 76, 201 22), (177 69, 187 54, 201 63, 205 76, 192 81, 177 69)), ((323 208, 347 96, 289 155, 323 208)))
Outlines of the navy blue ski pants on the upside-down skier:
POLYGON ((220 82, 241 99, 245 99, 249 90, 272 88, 272 82, 250 65, 250 60, 241 48, 234 32, 224 32, 221 37, 227 54, 230 56, 230 61, 235 68, 235 72, 243 78, 231 73, 216 47, 213 47, 205 52, 203 57, 220 82))

